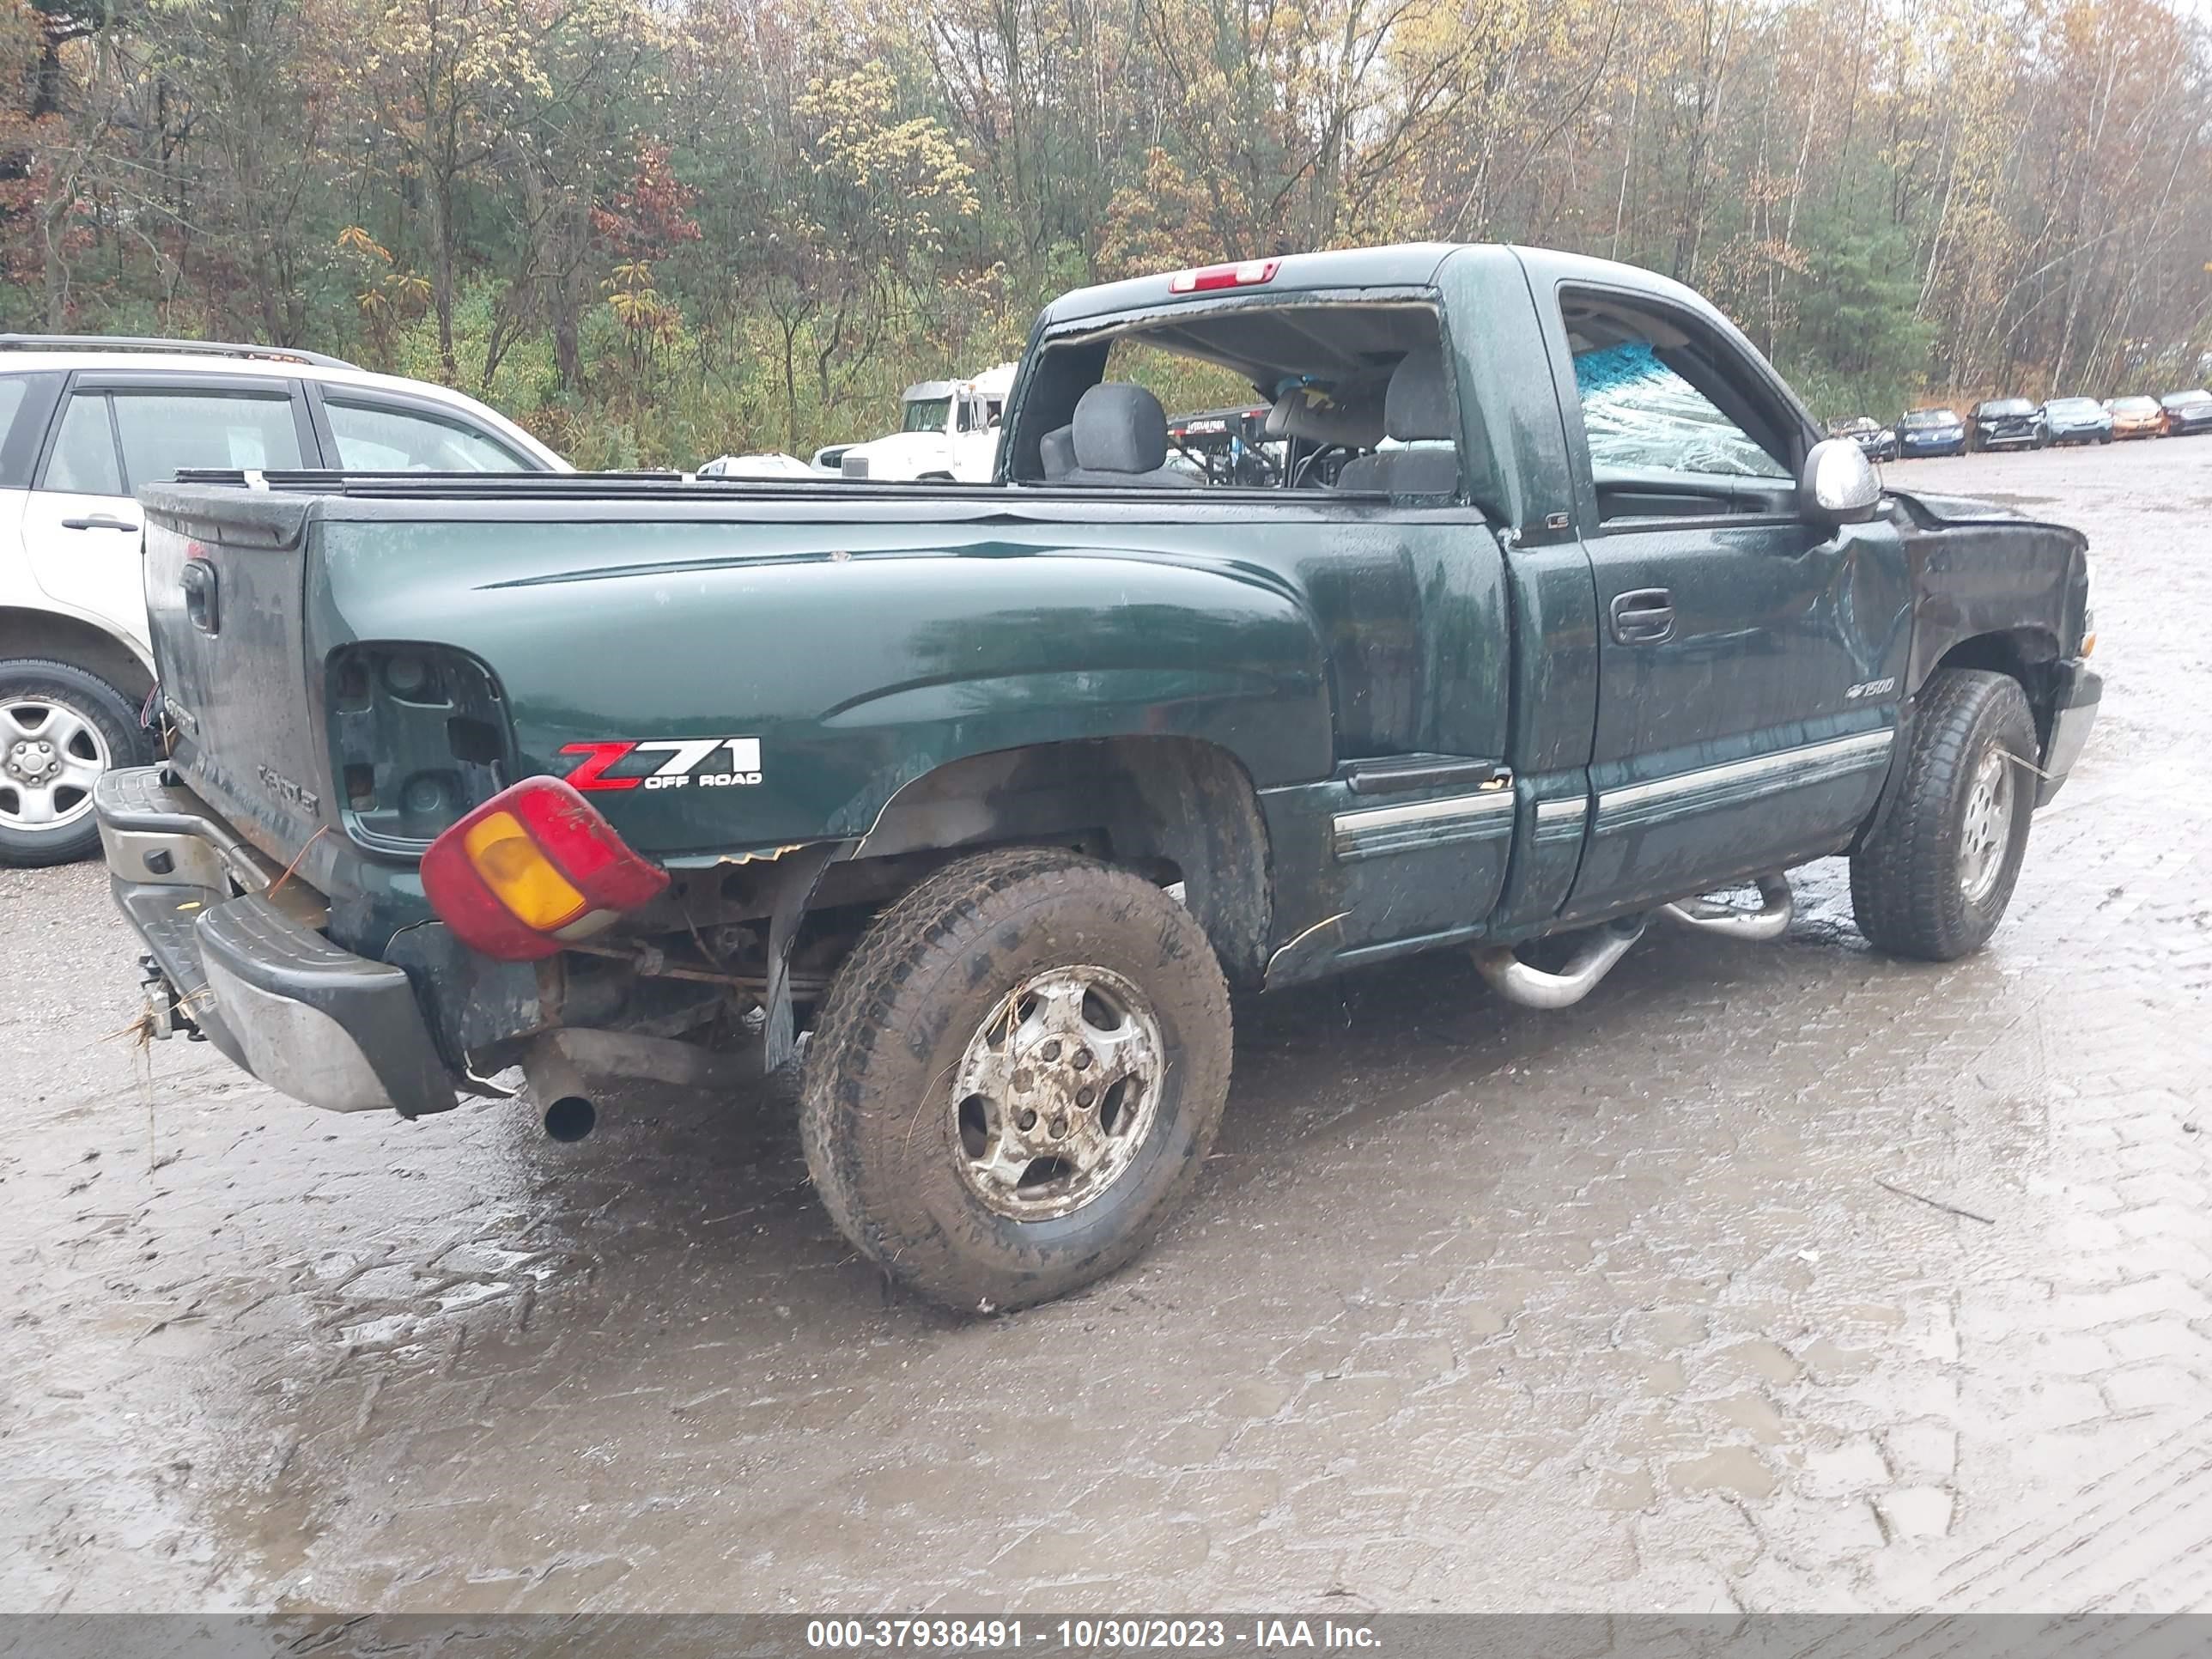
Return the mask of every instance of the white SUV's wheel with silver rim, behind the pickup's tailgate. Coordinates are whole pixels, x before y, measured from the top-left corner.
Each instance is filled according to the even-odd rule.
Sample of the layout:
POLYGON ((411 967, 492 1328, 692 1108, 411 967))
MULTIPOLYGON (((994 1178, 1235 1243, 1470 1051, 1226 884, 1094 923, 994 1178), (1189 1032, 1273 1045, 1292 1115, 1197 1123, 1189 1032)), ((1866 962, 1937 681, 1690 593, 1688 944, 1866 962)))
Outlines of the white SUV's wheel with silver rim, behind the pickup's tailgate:
POLYGON ((93 779, 148 752, 137 703, 66 661, 0 659, 0 865, 100 852, 93 779))

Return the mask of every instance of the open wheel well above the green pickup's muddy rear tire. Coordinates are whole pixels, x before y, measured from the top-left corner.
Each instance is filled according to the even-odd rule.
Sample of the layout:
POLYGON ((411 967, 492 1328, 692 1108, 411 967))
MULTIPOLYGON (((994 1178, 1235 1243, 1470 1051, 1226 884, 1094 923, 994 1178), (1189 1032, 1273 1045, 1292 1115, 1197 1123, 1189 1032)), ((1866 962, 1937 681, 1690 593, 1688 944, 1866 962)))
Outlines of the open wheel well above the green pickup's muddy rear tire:
POLYGON ((1221 971, 1256 984, 1270 931, 1267 825, 1228 750, 1188 737, 1104 737, 971 754, 905 785, 856 863, 1009 843, 1075 845, 1183 883, 1221 971))

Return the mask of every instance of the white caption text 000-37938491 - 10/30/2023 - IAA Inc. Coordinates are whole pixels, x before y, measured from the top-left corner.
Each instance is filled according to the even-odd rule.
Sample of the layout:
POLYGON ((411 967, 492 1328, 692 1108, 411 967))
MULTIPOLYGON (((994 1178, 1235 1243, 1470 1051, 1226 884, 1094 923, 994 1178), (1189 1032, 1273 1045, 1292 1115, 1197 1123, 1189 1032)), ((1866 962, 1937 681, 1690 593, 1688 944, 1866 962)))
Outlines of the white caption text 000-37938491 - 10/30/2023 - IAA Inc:
POLYGON ((816 1650, 883 1652, 1376 1652, 1380 1635, 1336 1619, 810 1619, 816 1650))

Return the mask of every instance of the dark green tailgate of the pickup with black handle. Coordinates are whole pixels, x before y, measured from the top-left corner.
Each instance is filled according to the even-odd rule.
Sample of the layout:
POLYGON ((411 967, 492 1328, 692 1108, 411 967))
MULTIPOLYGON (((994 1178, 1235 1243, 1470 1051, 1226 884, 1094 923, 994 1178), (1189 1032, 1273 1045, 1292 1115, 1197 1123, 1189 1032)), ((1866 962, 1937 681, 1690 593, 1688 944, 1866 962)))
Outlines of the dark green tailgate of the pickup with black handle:
POLYGON ((248 491, 219 515, 159 500, 146 513, 146 613, 170 763, 279 863, 332 812, 323 688, 305 646, 307 520, 296 498, 248 491))

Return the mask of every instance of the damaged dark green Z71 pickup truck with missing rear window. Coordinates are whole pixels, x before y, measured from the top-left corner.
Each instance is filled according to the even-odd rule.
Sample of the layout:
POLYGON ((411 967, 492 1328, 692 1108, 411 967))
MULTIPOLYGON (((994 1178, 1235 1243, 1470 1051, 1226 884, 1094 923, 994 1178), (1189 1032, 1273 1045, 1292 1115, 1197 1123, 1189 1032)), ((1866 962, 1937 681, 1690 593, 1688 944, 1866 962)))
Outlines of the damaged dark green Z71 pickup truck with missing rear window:
POLYGON ((142 500, 168 761, 97 814, 157 1031, 341 1110, 520 1068, 557 1137, 796 1057, 836 1225, 984 1312, 1190 1192, 1232 989, 1464 947, 1557 1009, 1829 854, 1958 958, 2099 699, 2079 533, 1885 493, 1697 294, 1526 248, 1068 294, 987 487, 142 500), (1194 363, 1279 476, 1168 467, 1194 363))

